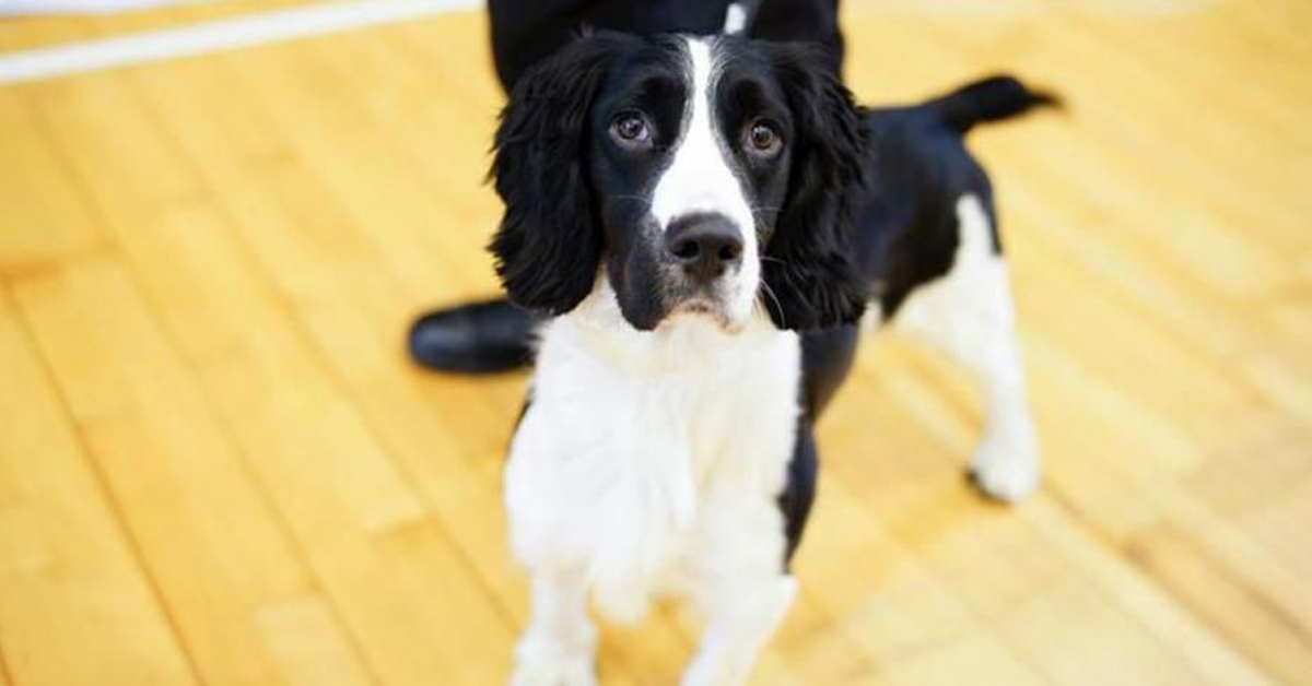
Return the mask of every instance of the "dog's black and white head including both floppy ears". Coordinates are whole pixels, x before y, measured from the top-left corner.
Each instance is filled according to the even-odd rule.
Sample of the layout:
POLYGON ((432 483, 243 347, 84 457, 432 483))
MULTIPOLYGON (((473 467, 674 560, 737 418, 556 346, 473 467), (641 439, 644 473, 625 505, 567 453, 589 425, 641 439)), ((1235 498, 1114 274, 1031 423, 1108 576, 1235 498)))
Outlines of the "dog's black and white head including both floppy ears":
POLYGON ((597 33, 526 72, 501 114, 491 249, 513 302, 554 315, 609 286, 636 329, 854 321, 849 245, 866 127, 804 46, 597 33), (607 279, 602 282, 600 279, 607 279))

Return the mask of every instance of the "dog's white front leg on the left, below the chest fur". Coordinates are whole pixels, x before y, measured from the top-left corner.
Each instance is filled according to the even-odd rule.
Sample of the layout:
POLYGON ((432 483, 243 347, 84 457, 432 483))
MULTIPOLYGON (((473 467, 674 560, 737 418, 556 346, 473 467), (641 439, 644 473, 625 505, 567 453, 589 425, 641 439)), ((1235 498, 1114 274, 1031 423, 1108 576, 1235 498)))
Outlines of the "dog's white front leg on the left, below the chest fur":
POLYGON ((583 575, 533 571, 533 618, 514 651, 510 686, 596 686, 596 647, 583 575))

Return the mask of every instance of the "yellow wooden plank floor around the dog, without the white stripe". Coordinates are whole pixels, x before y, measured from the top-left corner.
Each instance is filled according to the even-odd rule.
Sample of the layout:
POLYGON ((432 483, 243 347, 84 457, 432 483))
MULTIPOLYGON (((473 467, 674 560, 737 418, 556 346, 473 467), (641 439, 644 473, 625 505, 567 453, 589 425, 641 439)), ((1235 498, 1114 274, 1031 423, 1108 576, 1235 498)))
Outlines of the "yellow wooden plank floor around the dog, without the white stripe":
MULTIPOLYGON (((291 3, 0 22, 0 51, 291 3)), ((980 131, 1047 458, 870 341, 820 426, 802 599, 754 683, 1312 685, 1312 4, 846 3, 866 101, 994 70, 980 131)), ((505 679, 525 379, 424 374, 489 294, 478 13, 0 87, 0 686, 505 679)), ((673 611, 605 685, 677 682, 673 611)))

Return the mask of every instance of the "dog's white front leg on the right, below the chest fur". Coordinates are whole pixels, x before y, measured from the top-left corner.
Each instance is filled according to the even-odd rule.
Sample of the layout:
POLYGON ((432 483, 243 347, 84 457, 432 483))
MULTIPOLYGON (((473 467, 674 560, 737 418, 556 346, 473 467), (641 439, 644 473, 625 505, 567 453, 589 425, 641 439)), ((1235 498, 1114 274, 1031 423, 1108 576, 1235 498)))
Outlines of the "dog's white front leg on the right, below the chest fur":
POLYGON ((798 594, 796 580, 787 575, 732 588, 708 609, 702 645, 684 673, 682 686, 747 683, 757 656, 798 594))

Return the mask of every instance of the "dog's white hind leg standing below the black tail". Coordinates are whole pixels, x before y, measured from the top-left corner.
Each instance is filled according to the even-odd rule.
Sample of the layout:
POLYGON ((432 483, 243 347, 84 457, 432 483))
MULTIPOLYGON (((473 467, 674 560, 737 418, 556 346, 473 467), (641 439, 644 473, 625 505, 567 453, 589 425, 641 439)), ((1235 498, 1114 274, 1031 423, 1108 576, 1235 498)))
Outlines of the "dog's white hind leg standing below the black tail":
POLYGON ((994 249, 993 227, 979 195, 958 199, 956 224, 951 269, 913 290, 893 327, 946 352, 984 384, 984 437, 970 474, 987 496, 1014 501, 1038 484, 1039 451, 1006 265, 994 249))

